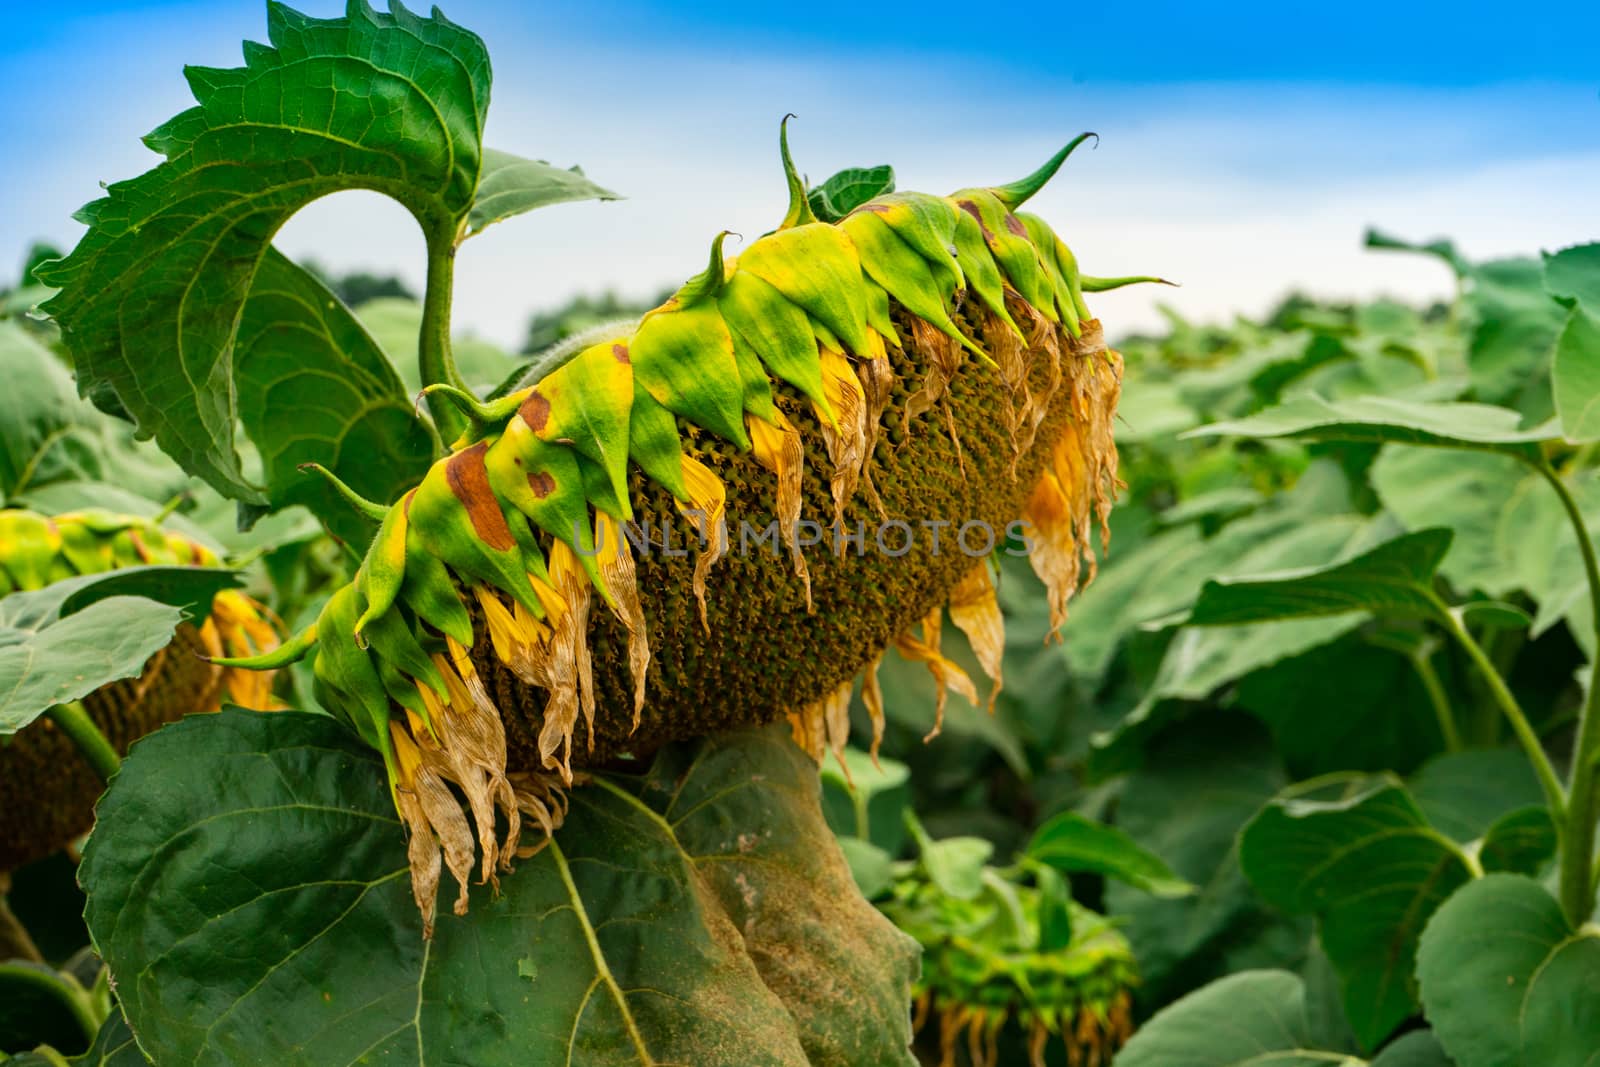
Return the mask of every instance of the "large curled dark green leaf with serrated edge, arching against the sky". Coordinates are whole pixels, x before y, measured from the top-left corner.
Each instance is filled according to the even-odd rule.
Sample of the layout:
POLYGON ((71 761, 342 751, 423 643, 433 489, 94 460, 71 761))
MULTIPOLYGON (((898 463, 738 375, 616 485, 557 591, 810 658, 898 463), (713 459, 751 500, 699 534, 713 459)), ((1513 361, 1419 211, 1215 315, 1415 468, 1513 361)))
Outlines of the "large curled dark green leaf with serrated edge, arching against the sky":
POLYGON ((80 389, 115 392, 186 470, 250 504, 267 496, 234 448, 234 342, 272 235, 370 189, 442 254, 477 194, 490 94, 483 42, 438 14, 274 3, 267 35, 243 67, 187 69, 197 106, 146 138, 165 162, 85 206, 78 246, 42 270, 80 389))

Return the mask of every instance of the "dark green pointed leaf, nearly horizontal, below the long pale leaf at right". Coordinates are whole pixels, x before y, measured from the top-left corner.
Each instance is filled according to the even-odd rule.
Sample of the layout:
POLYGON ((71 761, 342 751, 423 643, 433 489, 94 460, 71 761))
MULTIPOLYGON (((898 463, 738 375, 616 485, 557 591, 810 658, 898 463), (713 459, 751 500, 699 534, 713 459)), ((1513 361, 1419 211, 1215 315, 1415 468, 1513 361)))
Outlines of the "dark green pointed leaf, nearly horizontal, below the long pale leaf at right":
POLYGON ((1187 624, 1238 625, 1350 611, 1437 617, 1432 579, 1450 550, 1450 539, 1448 530, 1422 530, 1333 566, 1206 582, 1187 624))

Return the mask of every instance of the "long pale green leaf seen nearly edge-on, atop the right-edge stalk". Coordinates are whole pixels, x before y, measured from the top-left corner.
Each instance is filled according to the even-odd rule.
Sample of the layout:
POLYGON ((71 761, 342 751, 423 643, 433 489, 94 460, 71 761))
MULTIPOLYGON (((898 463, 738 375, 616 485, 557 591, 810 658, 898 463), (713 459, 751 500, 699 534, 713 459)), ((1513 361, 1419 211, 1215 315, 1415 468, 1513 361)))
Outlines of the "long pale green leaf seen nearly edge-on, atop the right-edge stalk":
POLYGON ((1213 422, 1184 437, 1294 437, 1325 442, 1398 442, 1499 451, 1538 461, 1538 442, 1558 435, 1552 422, 1520 429, 1522 416, 1482 403, 1418 403, 1392 397, 1323 400, 1296 397, 1243 419, 1213 422))

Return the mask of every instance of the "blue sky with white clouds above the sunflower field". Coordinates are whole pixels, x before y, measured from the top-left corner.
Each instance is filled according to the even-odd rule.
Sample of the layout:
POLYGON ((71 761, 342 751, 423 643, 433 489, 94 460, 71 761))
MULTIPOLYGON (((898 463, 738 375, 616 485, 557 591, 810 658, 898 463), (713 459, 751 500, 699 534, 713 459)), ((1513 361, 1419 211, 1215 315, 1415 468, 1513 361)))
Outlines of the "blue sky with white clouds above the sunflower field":
MULTIPOLYGON (((266 26, 256 0, 45 6, 6 3, 0 272, 34 237, 70 243, 96 182, 154 163, 138 136, 187 106, 184 62, 237 64, 266 26)), ((1114 330, 1158 322, 1157 299, 1226 318, 1296 286, 1448 291, 1435 264, 1363 253, 1370 224, 1477 256, 1600 237, 1592 3, 443 6, 494 58, 488 139, 629 195, 467 245, 458 322, 502 342, 536 307, 654 291, 699 269, 710 234, 776 222, 790 110, 813 178, 890 162, 931 192, 1008 181, 1098 130, 1040 213, 1093 274, 1184 283, 1106 294, 1114 330)), ((312 205, 280 245, 421 277, 414 227, 365 194, 312 205)))

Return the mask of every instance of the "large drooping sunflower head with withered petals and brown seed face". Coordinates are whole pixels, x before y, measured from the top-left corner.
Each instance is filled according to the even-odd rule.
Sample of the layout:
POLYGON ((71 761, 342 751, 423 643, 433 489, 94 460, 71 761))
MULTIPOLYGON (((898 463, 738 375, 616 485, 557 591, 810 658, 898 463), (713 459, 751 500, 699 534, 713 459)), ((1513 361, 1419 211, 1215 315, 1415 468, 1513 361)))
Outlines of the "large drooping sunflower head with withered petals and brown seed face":
POLYGON ((429 928, 440 854, 461 909, 475 853, 491 877, 586 766, 786 715, 842 745, 864 669, 880 720, 891 646, 973 689, 946 606, 998 685, 995 553, 1027 552, 1061 622, 1117 478, 1120 357, 1083 301, 1112 283, 1014 210, 1082 141, 1011 186, 822 219, 781 136, 774 232, 736 259, 718 235, 635 328, 522 389, 435 387, 469 432, 254 662, 317 648, 323 702, 389 765, 429 928))

